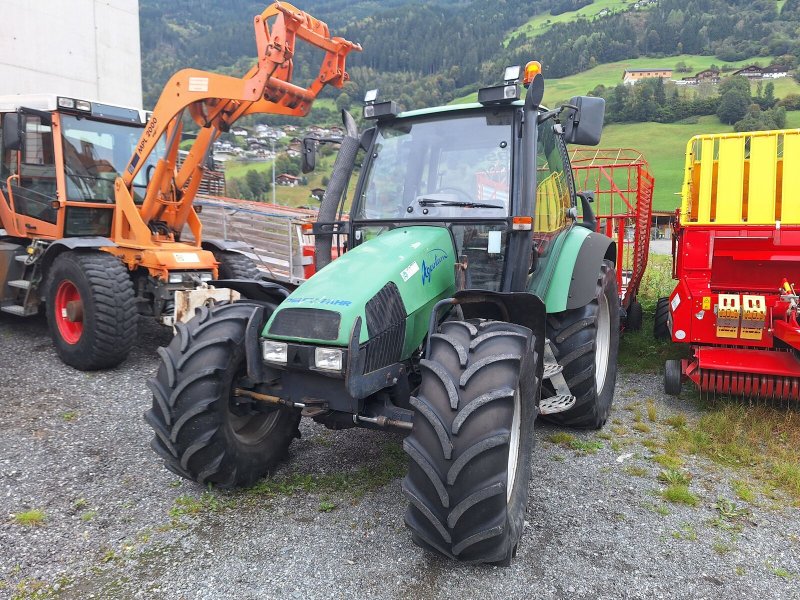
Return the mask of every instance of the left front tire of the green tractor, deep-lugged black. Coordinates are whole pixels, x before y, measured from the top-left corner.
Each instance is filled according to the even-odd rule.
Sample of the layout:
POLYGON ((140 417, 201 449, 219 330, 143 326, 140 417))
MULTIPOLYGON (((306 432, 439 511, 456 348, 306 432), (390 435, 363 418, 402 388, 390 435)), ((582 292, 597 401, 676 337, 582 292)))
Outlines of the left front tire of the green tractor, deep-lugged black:
POLYGON ((201 484, 249 486, 272 469, 298 437, 300 412, 235 398, 246 374, 245 330, 258 307, 202 308, 160 348, 148 381, 153 407, 145 420, 151 446, 173 473, 201 484))

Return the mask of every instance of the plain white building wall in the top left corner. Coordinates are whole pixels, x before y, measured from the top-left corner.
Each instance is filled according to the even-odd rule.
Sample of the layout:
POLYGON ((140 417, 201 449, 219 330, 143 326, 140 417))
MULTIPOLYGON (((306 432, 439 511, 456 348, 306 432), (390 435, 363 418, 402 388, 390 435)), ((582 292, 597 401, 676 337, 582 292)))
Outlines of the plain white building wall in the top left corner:
POLYGON ((2 0, 0 95, 142 106, 139 0, 2 0))

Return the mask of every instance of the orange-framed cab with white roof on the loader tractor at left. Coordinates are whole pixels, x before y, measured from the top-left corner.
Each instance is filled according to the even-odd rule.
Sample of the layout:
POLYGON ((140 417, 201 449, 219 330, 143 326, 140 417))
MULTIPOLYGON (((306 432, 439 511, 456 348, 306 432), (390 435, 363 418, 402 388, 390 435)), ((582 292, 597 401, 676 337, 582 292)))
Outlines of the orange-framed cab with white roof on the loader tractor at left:
MULTIPOLYGON (((0 97, 0 119, 3 221, 49 239, 110 235, 114 182, 141 137, 145 113, 41 94, 0 97)), ((157 159, 149 156, 134 181, 138 202, 157 159)))

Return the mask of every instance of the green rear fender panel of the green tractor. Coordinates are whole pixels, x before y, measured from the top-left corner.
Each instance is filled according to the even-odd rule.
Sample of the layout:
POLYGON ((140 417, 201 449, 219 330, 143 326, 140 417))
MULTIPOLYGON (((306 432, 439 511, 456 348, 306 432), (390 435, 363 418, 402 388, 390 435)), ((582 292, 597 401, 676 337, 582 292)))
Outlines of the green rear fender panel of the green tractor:
POLYGON ((528 291, 544 300, 548 313, 567 309, 569 286, 584 240, 592 232, 586 227, 570 227, 558 236, 544 264, 531 278, 528 291))

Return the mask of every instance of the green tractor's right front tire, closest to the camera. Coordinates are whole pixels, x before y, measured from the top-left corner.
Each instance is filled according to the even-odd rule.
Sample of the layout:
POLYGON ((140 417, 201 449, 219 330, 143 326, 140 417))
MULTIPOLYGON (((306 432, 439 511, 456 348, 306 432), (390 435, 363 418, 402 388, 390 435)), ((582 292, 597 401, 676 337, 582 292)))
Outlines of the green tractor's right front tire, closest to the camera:
POLYGON ((529 329, 498 321, 448 321, 432 337, 403 442, 411 457, 405 522, 426 550, 510 564, 528 502, 541 381, 542 358, 532 348, 529 329))

